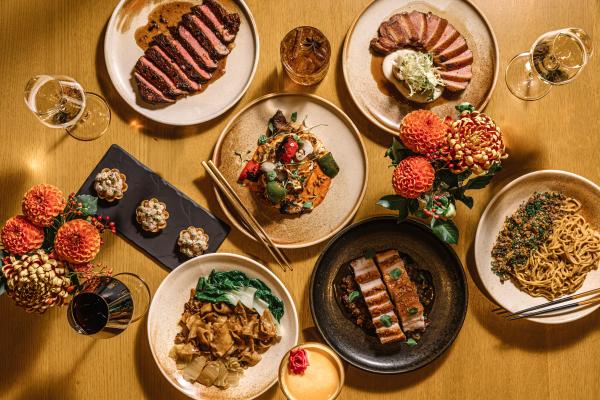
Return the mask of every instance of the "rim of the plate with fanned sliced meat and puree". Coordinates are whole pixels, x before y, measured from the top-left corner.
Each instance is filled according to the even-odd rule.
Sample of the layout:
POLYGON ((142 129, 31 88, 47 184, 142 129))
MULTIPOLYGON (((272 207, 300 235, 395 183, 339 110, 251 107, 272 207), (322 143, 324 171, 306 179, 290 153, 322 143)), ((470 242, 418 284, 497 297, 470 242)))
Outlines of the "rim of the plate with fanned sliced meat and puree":
MULTIPOLYGON (((348 47, 350 46, 350 37, 352 36, 352 33, 354 32, 354 28, 356 27, 356 24, 358 23, 358 20, 360 19, 360 17, 362 17, 362 15, 365 13, 365 11, 367 11, 367 9, 369 7, 371 7, 373 4, 375 4, 377 1, 379 1, 379 0, 371 0, 365 7, 363 7, 360 10, 360 12, 358 13, 358 15, 356 16, 356 18, 352 21, 352 24, 350 25, 350 28, 348 29, 348 32, 346 32, 346 37, 344 38, 344 44, 343 44, 343 47, 342 47, 342 73, 344 75, 344 83, 346 85, 346 89, 348 90, 348 93, 350 94, 350 98, 352 99, 352 102, 354 103, 354 105, 356 106, 356 108, 358 108, 358 110, 360 111, 360 113, 365 118, 367 118, 369 120, 369 122, 373 123, 376 127, 384 130, 386 133, 389 133, 390 135, 398 136, 398 132, 394 131, 393 129, 391 129, 391 128, 387 127, 387 126, 385 126, 384 124, 382 124, 381 122, 379 122, 377 119, 375 119, 357 101, 357 98, 354 95, 354 92, 352 91, 352 89, 350 87, 350 80, 348 78, 348 70, 347 70, 347 66, 346 66, 346 64, 347 64, 346 63, 346 58, 347 58, 347 55, 348 55, 348 47)), ((477 5, 475 5, 471 0, 458 0, 458 1, 462 1, 464 3, 467 3, 470 7, 472 7, 475 10, 475 12, 477 14, 479 14, 479 16, 481 17, 481 19, 485 23, 488 31, 490 32, 490 35, 492 37, 492 43, 494 44, 494 58, 495 58, 495 63, 494 63, 494 78, 492 80, 492 85, 490 86, 490 90, 489 90, 487 96, 483 99, 483 102, 479 106, 480 111, 483 111, 485 109, 485 107, 488 105, 488 103, 490 102, 490 100, 492 98, 492 95, 494 94, 494 91, 496 90, 496 84, 498 83, 498 75, 499 75, 499 71, 500 71, 500 48, 498 47, 498 39, 496 38, 496 33, 494 32, 494 29, 492 29, 492 25, 490 24, 490 21, 487 19, 487 17, 481 11, 481 9, 479 7, 477 7, 477 5)), ((411 0, 408 0, 408 2, 410 3, 411 0)))

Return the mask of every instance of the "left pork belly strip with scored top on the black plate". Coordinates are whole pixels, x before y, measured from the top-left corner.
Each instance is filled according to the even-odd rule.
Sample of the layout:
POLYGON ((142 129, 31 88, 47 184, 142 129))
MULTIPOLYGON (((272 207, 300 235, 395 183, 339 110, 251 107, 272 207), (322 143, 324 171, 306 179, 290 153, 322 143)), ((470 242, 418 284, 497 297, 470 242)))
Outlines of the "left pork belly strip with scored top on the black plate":
POLYGON ((404 340, 406 337, 398 324, 394 314, 394 306, 381 280, 381 275, 372 259, 364 257, 353 260, 350 265, 354 270, 354 279, 365 299, 375 332, 381 343, 393 343, 404 340), (382 320, 381 317, 387 315, 382 320), (389 319, 388 319, 389 318, 389 319))

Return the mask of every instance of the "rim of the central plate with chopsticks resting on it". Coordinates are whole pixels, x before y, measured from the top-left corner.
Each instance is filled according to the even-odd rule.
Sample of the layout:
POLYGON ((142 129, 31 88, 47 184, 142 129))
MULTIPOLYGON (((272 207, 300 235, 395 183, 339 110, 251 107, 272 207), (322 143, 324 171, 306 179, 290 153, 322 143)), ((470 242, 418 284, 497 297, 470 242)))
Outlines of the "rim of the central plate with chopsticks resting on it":
MULTIPOLYGON (((276 98, 276 97, 284 97, 284 96, 307 97, 311 100, 316 101, 317 103, 321 103, 322 105, 324 105, 330 109, 333 109, 333 111, 335 111, 335 114, 337 114, 338 117, 341 117, 342 120, 344 122, 346 122, 352 128, 351 131, 352 131, 353 135, 356 137, 356 139, 358 139, 358 142, 360 144, 360 148, 361 148, 362 154, 363 154, 363 160, 364 160, 363 167, 364 167, 364 171, 365 171, 365 178, 364 178, 362 190, 360 192, 360 196, 357 199, 356 204, 354 204, 354 207, 352 208, 352 210, 348 213, 346 218, 336 229, 332 230, 330 233, 323 236, 322 238, 318 238, 318 239, 315 239, 310 242, 278 243, 278 242, 274 241, 275 246, 280 249, 302 249, 302 248, 311 247, 316 244, 322 243, 322 242, 326 241, 327 239, 330 239, 333 236, 335 236, 342 229, 346 228, 352 222, 352 220, 356 216, 356 213, 358 212, 358 209, 362 205, 362 202, 363 202, 365 194, 366 194, 367 186, 369 183, 369 158, 367 155, 367 149, 365 147, 365 143, 362 139, 362 135, 361 135, 360 131, 358 130, 358 128, 356 127, 356 124, 354 123, 354 121, 352 121, 352 119, 350 119, 350 117, 340 107, 333 104, 331 101, 329 101, 321 96, 317 96, 316 94, 313 94, 313 93, 303 93, 303 92, 297 92, 297 91, 273 92, 273 93, 268 93, 268 94, 259 96, 258 98, 252 100, 250 103, 245 105, 240 111, 238 111, 233 117, 231 117, 229 119, 229 121, 227 122, 225 127, 221 130, 219 137, 217 138, 211 160, 215 164, 217 163, 217 156, 219 155, 219 153, 221 151, 221 147, 223 145, 223 141, 225 140, 225 136, 227 135, 227 133, 229 132, 229 130, 231 129, 231 127, 235 123, 235 121, 237 121, 238 118, 243 113, 248 111, 250 108, 254 107, 256 104, 261 103, 265 100, 276 98)), ((215 187, 214 192, 217 197, 217 202, 221 206, 221 210, 227 216, 227 219, 231 222, 231 224, 234 225, 244 235, 246 235, 253 241, 257 242, 254 235, 252 235, 250 232, 248 232, 248 230, 243 226, 243 224, 241 224, 238 221, 238 219, 232 215, 231 211, 229 210, 229 208, 227 207, 227 205, 225 204, 225 202, 223 200, 223 196, 221 195, 220 190, 217 187, 215 187)))

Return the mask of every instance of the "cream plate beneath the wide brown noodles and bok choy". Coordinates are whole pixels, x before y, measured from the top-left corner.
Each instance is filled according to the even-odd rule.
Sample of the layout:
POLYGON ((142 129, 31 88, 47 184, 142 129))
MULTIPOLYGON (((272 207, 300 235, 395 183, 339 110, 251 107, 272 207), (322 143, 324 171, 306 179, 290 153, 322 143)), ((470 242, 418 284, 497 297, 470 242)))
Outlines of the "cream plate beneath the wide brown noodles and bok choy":
POLYGON ((148 340, 158 368, 179 391, 192 399, 237 400, 254 399, 267 391, 275 382, 279 364, 287 351, 298 342, 298 314, 296 306, 283 283, 267 268, 248 257, 237 254, 214 253, 193 258, 173 270, 161 283, 154 295, 148 313, 148 340), (169 357, 173 339, 179 332, 179 318, 190 290, 198 278, 210 272, 238 270, 250 278, 262 280, 284 303, 281 319, 281 341, 262 354, 262 360, 244 371, 237 387, 220 390, 190 383, 177 371, 175 361, 169 357))

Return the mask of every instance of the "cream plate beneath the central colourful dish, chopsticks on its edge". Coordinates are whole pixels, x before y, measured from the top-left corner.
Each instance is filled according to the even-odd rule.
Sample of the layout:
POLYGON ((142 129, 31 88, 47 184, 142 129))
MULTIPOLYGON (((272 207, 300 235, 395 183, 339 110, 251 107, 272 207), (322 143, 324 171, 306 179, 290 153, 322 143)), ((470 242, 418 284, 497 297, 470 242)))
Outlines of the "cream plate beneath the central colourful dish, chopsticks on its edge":
MULTIPOLYGON (((254 100, 227 124, 217 141, 213 162, 234 187, 278 247, 300 248, 327 240, 347 225, 360 206, 367 186, 367 154, 352 121, 342 110, 320 97, 308 94, 269 94, 254 100), (325 124, 313 132, 331 151, 340 167, 333 178, 327 197, 312 212, 299 216, 282 215, 245 187, 237 179, 243 165, 235 153, 249 159, 258 137, 266 132, 269 118, 280 109, 289 118, 294 111, 298 120, 307 116, 308 126, 325 124)), ((253 238, 226 206, 221 193, 217 199, 231 222, 253 238)))

